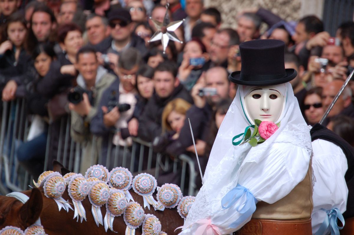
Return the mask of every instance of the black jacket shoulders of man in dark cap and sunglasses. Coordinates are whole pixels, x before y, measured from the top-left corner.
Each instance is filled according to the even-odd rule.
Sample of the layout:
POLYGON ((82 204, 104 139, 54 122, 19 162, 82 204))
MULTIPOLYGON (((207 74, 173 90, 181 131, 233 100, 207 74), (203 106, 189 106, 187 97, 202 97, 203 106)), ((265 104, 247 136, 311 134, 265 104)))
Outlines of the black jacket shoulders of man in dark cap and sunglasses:
MULTIPOLYGON (((98 52, 101 52, 102 54, 107 54, 109 52, 120 54, 120 52, 116 52, 112 49, 112 41, 112 37, 109 36, 107 39, 104 39, 102 42, 98 43, 95 48, 98 52)), ((139 36, 136 36, 135 34, 131 35, 130 47, 135 47, 142 54, 142 56, 147 53, 144 39, 139 36)))

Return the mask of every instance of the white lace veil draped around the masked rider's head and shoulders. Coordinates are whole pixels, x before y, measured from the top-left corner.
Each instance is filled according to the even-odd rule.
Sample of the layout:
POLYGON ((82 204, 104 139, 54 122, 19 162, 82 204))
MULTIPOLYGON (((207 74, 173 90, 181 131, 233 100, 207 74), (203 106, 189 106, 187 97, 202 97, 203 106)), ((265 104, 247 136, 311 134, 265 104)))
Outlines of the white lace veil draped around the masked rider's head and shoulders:
MULTIPOLYGON (((280 127, 265 142, 251 148, 249 143, 239 146, 232 144, 232 138, 235 135, 243 133, 245 128, 251 125, 247 121, 244 103, 244 94, 246 94, 246 91, 250 87, 239 86, 235 99, 229 107, 212 147, 204 174, 204 185, 196 196, 183 229, 187 229, 200 219, 211 217, 211 222, 213 223, 213 214, 221 211, 221 199, 237 186, 240 169, 242 169, 246 162, 259 163, 267 155, 266 153, 274 148, 274 143, 291 143, 306 150, 305 152, 310 156, 312 149, 309 130, 302 117, 291 84, 287 82, 275 87, 285 96, 282 114, 279 118, 281 122, 280 127)), ((305 157, 307 166, 309 156, 305 157)), ((296 158, 297 156, 294 155, 292 157, 296 158)), ((299 159, 303 158, 299 157, 299 159)), ((304 164, 306 165, 306 163, 304 164)), ((303 169, 301 173, 306 175, 307 170, 303 169)), ((262 200, 267 203, 274 203, 281 199, 274 195, 269 196, 267 193, 253 193, 253 195, 258 201, 262 200)), ((222 230, 222 232, 225 231, 222 230)), ((193 232, 190 234, 193 234, 193 232)))

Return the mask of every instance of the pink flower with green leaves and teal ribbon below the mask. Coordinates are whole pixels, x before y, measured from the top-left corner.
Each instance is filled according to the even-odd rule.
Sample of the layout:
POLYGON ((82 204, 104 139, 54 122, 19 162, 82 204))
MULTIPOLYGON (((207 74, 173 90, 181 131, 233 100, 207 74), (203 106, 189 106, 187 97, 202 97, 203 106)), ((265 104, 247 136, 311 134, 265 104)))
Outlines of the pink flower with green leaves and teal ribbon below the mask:
POLYGON ((232 144, 242 145, 243 143, 250 143, 252 147, 255 147, 259 143, 263 143, 270 136, 272 136, 276 130, 278 130, 280 123, 263 121, 255 119, 255 125, 246 127, 245 132, 233 137, 232 144), (251 131, 253 128, 253 131, 251 131), (241 138, 240 138, 241 137, 241 138), (238 140, 238 141, 236 141, 238 140))

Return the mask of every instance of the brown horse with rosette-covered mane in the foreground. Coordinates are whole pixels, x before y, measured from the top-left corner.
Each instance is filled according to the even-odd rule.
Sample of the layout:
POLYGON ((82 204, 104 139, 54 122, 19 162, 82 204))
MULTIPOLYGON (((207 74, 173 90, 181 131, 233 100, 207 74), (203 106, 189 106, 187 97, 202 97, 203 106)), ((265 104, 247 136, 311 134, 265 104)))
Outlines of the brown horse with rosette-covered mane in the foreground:
MULTIPOLYGON (((61 174, 67 173, 59 164, 54 165, 54 171, 61 174)), ((47 198, 42 188, 33 188, 32 190, 27 190, 22 193, 29 196, 29 200, 25 204, 22 204, 15 198, 0 196, 0 229, 10 225, 24 230, 40 217, 41 224, 48 235, 125 234, 126 224, 123 220, 123 216, 114 219, 113 229, 117 233, 109 229, 106 232, 103 225, 97 227, 91 213, 91 203, 87 197, 82 201, 82 205, 86 211, 87 221, 84 220, 80 223, 76 222, 76 218, 73 219, 73 210, 69 210, 69 212, 65 210, 59 211, 56 202, 53 199, 47 198)), ((140 205, 144 205, 142 196, 139 196, 133 191, 130 193, 135 201, 139 202, 140 205)), ((63 198, 72 203, 67 189, 63 194, 63 198)), ((164 211, 155 211, 153 207, 150 207, 150 210, 144 208, 144 211, 145 214, 153 214, 159 218, 162 231, 167 234, 178 234, 181 231, 174 231, 177 227, 183 225, 183 218, 179 216, 176 208, 166 208, 164 211)), ((101 212, 104 217, 106 213, 105 206, 101 207, 101 212)), ((136 234, 142 234, 141 227, 136 229, 136 234)))

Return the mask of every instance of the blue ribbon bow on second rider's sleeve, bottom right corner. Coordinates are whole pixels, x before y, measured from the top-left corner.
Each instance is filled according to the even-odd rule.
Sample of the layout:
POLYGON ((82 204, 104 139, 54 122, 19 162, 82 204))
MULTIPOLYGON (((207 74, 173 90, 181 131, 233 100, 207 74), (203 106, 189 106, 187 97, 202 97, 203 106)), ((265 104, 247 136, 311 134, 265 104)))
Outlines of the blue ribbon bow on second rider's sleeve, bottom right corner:
POLYGON ((330 211, 326 211, 324 208, 321 208, 321 210, 325 211, 327 216, 315 235, 324 235, 328 227, 331 229, 331 235, 339 235, 339 229, 343 229, 344 227, 344 218, 341 211, 338 208, 333 208, 330 211), (337 225, 338 219, 342 222, 342 227, 337 225))

